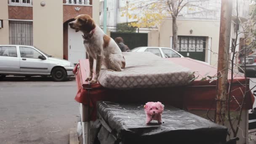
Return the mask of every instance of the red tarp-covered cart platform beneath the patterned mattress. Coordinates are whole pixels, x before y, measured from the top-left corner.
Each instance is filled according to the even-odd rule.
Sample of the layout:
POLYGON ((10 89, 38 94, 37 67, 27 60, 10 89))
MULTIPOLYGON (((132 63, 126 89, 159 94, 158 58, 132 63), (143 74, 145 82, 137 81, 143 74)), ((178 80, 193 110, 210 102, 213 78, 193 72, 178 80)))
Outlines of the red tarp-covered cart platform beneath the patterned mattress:
MULTIPOLYGON (((142 52, 141 52, 142 53, 142 52)), ((204 62, 196 61, 189 58, 170 58, 166 59, 174 64, 179 64, 181 67, 190 69, 195 73, 195 76, 215 75, 217 69, 204 62)), ((129 63, 129 59, 127 59, 129 63)), ((170 64, 166 67, 171 67, 170 64)), ((154 69, 152 69, 154 70, 154 69)), ((96 101, 115 101, 123 102, 145 102, 147 101, 163 101, 165 104, 172 105, 179 109, 187 110, 214 110, 216 106, 216 80, 209 82, 209 80, 197 79, 188 85, 179 85, 172 87, 155 88, 133 88, 133 89, 112 89, 105 88, 100 83, 90 85, 85 79, 88 77, 89 61, 80 60, 73 70, 76 73, 77 94, 75 100, 84 105, 89 105, 91 109, 90 120, 96 120, 96 101)), ((102 71, 104 72, 104 71, 102 71)), ((186 76, 187 77, 187 76, 186 76)), ((228 74, 230 82, 231 73, 228 74)), ((240 75, 235 75, 231 95, 235 99, 230 102, 230 109, 237 111, 239 104, 242 101, 243 93, 245 91, 245 83, 249 85, 249 79, 240 75)), ((228 87, 227 87, 228 88, 228 87)), ((249 86, 246 87, 249 91, 249 86)), ((244 109, 252 109, 254 97, 251 91, 246 93, 244 109)), ((83 120, 88 121, 88 118, 83 120)))

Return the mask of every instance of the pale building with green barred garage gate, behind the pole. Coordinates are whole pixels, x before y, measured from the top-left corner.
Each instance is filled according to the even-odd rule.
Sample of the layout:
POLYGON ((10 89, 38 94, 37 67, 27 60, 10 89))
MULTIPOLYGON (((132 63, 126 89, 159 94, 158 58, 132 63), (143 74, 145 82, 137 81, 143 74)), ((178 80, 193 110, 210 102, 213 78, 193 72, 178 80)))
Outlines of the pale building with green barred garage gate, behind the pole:
MULTIPOLYGON (((238 21, 239 35, 236 44, 234 43, 236 37, 235 24, 237 13, 235 2, 236 1, 233 1, 230 47, 237 45, 236 51, 238 51, 245 45, 245 35, 242 26, 248 21, 247 18, 249 17, 249 5, 251 0, 238 0, 238 15, 240 21, 238 21)), ((177 50, 183 56, 205 61, 217 67, 221 0, 199 3, 199 6, 205 8, 205 10, 194 8, 194 10, 191 11, 185 8, 178 16, 177 50)), ((159 41, 158 43, 155 42, 156 45, 173 48, 172 18, 167 18, 162 21, 157 35, 159 35, 159 41), (166 29, 169 30, 166 31, 166 29)), ((231 57, 231 49, 229 52, 231 57)), ((237 62, 238 58, 235 59, 235 63, 237 62)))

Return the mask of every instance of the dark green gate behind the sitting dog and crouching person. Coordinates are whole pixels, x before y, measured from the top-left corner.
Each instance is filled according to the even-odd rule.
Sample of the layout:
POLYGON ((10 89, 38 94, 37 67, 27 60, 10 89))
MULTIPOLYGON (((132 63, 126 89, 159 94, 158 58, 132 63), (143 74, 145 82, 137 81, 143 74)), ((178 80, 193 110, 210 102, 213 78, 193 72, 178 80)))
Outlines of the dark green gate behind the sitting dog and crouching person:
POLYGON ((147 33, 136 32, 111 32, 110 36, 115 40, 116 37, 122 37, 125 45, 130 49, 147 46, 147 33))

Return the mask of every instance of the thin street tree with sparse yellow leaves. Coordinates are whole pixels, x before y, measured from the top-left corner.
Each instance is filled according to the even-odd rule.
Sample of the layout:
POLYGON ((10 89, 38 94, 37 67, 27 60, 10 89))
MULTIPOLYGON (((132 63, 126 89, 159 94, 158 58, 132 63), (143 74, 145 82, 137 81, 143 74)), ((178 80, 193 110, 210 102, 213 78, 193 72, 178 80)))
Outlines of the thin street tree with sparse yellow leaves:
POLYGON ((198 5, 209 0, 127 0, 123 8, 122 16, 133 19, 132 27, 154 27, 159 25, 166 17, 172 18, 173 49, 177 50, 178 26, 177 17, 185 7, 193 11, 195 8, 200 11, 208 11, 198 5), (137 13, 136 13, 137 11, 137 13))

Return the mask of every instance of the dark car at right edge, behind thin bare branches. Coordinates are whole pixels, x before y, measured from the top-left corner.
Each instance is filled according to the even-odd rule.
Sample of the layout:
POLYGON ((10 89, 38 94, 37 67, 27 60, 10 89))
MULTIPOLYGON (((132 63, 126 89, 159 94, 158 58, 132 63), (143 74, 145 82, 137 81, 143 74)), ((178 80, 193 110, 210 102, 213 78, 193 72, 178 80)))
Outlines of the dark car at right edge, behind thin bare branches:
POLYGON ((256 53, 249 54, 248 56, 240 57, 239 66, 242 68, 238 68, 239 72, 244 72, 246 65, 246 76, 253 77, 256 75, 256 53))

